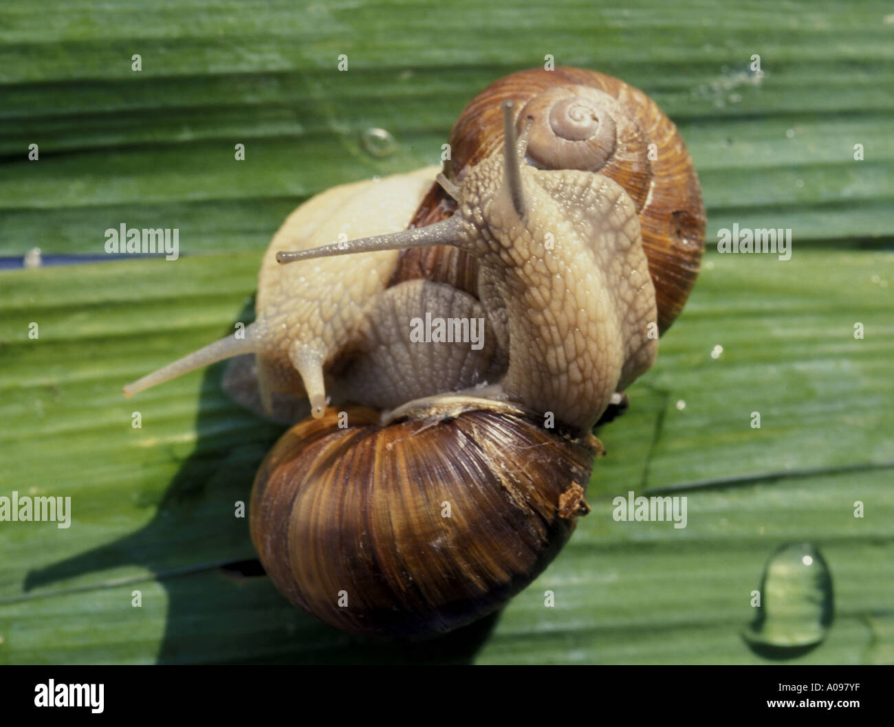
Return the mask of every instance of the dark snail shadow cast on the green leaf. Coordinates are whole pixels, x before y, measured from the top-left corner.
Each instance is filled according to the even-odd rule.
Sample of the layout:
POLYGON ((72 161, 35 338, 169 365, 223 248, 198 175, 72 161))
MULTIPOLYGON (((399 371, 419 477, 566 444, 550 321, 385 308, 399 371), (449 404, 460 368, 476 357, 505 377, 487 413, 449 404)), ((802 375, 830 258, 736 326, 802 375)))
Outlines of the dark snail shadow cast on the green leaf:
MULTIPOLYGON (((252 318, 249 303, 237 320, 252 318)), ((291 606, 274 589, 255 558, 247 504, 257 467, 283 427, 261 420, 223 394, 225 365, 215 364, 204 373, 192 454, 182 460, 160 499, 148 492, 141 496, 146 506, 155 507, 153 519, 125 538, 30 571, 24 589, 126 565, 147 568, 168 600, 158 664, 470 662, 499 614, 428 641, 388 643, 336 631, 291 606), (239 500, 246 503, 244 517, 234 516, 239 500), (215 562, 178 567, 158 555, 166 552, 169 559, 171 544, 177 544, 179 554, 188 553, 200 533, 208 531, 215 532, 215 542, 232 546, 215 562), (159 543, 168 547, 159 548, 159 543)))

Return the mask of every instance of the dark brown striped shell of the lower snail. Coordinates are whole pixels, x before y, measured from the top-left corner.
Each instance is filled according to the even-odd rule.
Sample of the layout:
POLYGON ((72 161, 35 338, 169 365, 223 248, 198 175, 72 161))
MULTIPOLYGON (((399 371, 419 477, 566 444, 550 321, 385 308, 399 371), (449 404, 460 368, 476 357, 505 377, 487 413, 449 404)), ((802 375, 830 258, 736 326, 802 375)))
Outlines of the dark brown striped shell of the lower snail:
POLYGON ((462 409, 383 427, 352 407, 345 429, 330 409, 283 435, 249 510, 283 595, 345 631, 417 639, 493 612, 544 570, 589 509, 601 445, 501 405, 462 409))

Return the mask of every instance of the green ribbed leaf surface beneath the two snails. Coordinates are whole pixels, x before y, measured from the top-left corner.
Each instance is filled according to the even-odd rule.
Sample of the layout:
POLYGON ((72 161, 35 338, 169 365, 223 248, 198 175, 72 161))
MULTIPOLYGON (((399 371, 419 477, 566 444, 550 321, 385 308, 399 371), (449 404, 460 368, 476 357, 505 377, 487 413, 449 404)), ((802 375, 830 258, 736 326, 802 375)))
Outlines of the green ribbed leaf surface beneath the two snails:
POLYGON ((181 258, 0 272, 0 496, 72 497, 68 529, 0 522, 0 663, 768 663, 741 638, 751 592, 801 540, 836 615, 790 661, 894 661, 892 33, 873 2, 4 6, 0 254, 104 255, 123 222, 179 228, 181 258), (291 209, 437 163, 468 99, 544 54, 678 123, 703 272, 599 432, 593 512, 532 586, 431 644, 333 631, 222 569, 254 557, 234 503, 280 429, 223 395, 221 365, 130 401, 121 385, 250 319, 291 209), (365 151, 374 128, 391 155, 365 151), (737 222, 791 228, 791 259, 719 255, 737 222), (616 522, 629 490, 685 495, 687 527, 616 522))

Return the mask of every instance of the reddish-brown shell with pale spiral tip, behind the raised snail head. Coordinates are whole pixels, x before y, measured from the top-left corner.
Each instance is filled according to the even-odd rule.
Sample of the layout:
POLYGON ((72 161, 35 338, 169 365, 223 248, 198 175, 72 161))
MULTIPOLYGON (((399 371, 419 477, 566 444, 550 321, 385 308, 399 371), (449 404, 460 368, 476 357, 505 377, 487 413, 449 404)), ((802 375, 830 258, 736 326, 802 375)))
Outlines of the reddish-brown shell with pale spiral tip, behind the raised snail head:
MULTIPOLYGON (((595 71, 532 69, 499 79, 472 99, 451 131, 448 179, 502 148, 501 102, 515 101, 521 130, 534 116, 527 162, 542 169, 598 171, 617 181, 639 212, 662 332, 679 315, 704 251, 704 204, 692 160, 677 128, 654 101, 595 71), (654 145, 650 149, 650 145, 654 145)), ((434 185, 411 222, 449 217, 455 203, 434 185)), ((477 295, 477 264, 453 247, 401 253, 391 284, 426 278, 477 295)))

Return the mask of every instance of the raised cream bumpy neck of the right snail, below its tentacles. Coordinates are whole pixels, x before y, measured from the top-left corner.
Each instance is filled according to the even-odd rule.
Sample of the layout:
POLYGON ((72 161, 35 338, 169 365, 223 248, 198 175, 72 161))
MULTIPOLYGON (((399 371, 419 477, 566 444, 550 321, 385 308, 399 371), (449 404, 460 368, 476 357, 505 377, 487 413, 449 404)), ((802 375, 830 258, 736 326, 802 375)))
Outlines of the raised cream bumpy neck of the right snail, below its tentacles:
POLYGON ((508 224, 510 214, 495 214, 501 223, 488 227, 479 280, 485 308, 503 309, 508 322, 500 385, 511 401, 587 430, 622 373, 654 360, 654 287, 637 213, 600 175, 527 168, 524 176, 526 213, 508 224))

